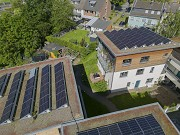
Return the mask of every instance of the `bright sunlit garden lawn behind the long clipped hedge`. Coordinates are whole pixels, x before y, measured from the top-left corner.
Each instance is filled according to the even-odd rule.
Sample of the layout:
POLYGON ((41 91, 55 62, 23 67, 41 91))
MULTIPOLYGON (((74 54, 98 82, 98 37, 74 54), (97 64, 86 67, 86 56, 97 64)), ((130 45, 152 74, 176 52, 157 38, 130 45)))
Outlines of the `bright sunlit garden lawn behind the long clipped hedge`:
POLYGON ((90 43, 90 38, 87 37, 88 31, 86 30, 73 30, 66 33, 61 39, 70 41, 70 40, 77 40, 77 42, 81 42, 82 38, 85 38, 87 43, 90 43))

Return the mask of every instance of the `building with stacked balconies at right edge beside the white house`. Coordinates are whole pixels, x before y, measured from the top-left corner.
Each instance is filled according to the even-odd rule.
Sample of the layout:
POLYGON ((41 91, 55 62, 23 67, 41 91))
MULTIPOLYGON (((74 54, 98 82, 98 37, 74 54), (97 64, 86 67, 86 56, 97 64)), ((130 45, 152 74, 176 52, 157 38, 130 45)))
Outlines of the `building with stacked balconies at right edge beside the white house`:
POLYGON ((166 66, 166 81, 172 83, 174 89, 180 90, 180 48, 174 49, 166 66))

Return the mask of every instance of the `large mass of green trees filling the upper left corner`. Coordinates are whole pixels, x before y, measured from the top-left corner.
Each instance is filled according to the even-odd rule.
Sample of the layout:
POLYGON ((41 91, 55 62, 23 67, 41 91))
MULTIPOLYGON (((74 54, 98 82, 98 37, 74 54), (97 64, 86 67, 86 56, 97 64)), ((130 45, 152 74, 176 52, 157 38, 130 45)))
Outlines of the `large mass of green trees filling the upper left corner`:
POLYGON ((24 63, 47 35, 74 25, 69 0, 13 0, 12 5, 10 13, 0 16, 0 65, 24 63))

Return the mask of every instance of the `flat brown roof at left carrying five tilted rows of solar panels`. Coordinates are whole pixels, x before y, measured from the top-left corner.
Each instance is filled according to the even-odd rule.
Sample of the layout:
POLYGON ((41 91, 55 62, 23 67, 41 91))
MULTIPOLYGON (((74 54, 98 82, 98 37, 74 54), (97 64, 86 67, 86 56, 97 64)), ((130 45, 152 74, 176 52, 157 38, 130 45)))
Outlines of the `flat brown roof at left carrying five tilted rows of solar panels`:
POLYGON ((0 70, 0 94, 0 134, 24 135, 84 118, 68 58, 0 70))

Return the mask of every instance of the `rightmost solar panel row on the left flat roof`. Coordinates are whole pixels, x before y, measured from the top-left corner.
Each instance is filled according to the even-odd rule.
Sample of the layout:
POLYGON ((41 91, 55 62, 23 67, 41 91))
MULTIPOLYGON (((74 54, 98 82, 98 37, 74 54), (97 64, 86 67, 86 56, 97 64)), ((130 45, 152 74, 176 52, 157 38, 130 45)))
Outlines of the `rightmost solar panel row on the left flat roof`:
POLYGON ((56 86, 56 108, 67 105, 66 82, 64 77, 64 66, 60 62, 54 66, 56 86))

